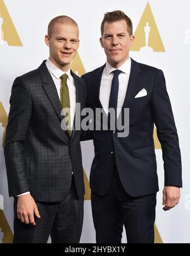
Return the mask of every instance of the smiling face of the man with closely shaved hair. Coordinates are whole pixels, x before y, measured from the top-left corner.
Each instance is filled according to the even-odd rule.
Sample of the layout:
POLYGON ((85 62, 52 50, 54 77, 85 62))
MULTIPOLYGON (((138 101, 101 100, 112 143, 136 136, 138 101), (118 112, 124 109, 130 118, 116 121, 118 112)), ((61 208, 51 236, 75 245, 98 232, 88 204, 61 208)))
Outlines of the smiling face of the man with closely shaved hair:
POLYGON ((79 48, 79 29, 76 25, 56 23, 51 37, 46 36, 49 59, 56 67, 68 71, 79 48))

